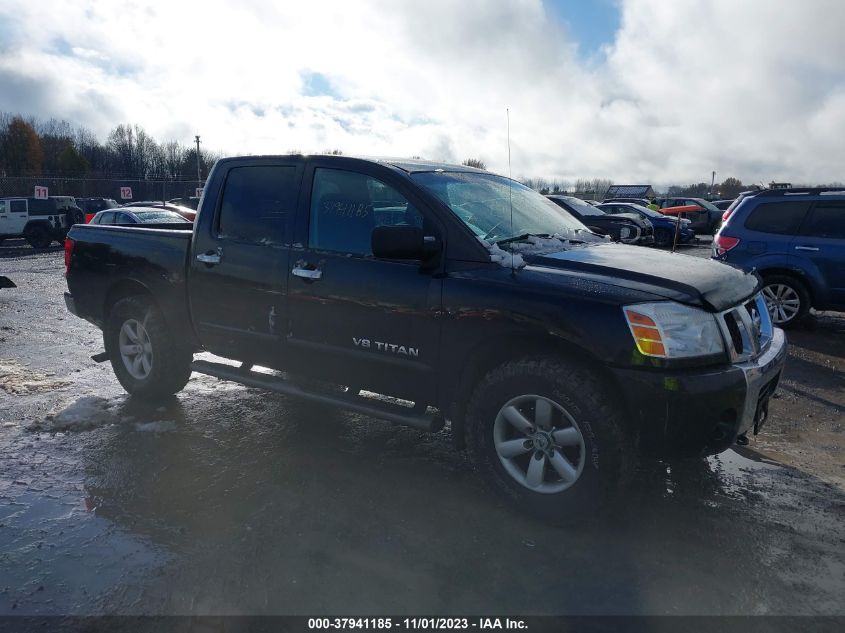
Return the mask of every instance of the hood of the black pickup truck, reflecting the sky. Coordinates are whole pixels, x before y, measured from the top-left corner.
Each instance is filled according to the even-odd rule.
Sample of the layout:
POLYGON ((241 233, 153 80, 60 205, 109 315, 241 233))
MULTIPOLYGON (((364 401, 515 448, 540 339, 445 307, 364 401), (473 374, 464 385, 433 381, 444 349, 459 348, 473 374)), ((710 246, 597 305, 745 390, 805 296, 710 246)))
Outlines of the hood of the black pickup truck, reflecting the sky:
POLYGON ((552 253, 523 253, 535 271, 580 273, 603 283, 701 306, 726 310, 753 295, 758 279, 751 273, 711 259, 624 244, 596 244, 552 253))

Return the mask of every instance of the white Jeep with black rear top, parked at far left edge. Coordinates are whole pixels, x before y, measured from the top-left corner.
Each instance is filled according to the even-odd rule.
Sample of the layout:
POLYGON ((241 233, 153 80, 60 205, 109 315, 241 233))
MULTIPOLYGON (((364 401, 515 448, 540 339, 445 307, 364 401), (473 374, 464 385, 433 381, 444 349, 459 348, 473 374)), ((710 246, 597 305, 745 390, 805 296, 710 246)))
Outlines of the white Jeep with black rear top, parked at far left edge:
POLYGON ((33 248, 63 242, 68 228, 84 220, 79 207, 57 198, 0 200, 0 241, 23 237, 33 248))

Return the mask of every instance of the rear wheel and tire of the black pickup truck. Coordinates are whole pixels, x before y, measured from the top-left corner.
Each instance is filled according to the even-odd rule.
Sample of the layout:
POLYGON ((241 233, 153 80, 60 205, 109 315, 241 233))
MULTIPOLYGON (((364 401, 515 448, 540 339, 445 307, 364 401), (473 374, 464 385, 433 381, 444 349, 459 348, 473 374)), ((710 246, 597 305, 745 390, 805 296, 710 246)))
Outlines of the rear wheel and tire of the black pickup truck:
POLYGON ((191 349, 168 329, 150 299, 126 297, 115 303, 103 336, 115 376, 128 393, 159 399, 188 382, 191 349))

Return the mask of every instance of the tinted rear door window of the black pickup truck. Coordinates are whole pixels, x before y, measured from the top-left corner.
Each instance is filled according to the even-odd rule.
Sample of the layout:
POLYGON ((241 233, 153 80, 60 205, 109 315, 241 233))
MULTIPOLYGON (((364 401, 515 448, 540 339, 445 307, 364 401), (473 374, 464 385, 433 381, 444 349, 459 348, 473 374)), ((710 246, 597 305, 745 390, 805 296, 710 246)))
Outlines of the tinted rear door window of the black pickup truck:
POLYGON ((296 211, 296 167, 255 165, 229 171, 218 236, 255 244, 285 244, 296 211))

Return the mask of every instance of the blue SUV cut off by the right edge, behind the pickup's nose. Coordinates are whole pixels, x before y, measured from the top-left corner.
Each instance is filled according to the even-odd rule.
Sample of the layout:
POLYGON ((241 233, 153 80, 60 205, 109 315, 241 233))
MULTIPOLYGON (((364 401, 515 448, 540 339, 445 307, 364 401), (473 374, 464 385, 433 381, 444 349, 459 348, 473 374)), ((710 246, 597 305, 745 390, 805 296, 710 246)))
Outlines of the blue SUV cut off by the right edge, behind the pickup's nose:
POLYGON ((713 258, 763 279, 772 321, 845 310, 845 189, 766 189, 725 212, 713 258))

